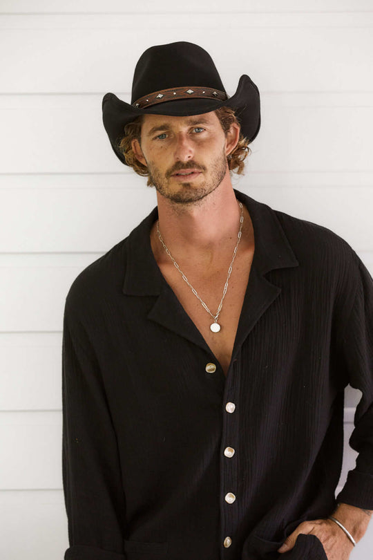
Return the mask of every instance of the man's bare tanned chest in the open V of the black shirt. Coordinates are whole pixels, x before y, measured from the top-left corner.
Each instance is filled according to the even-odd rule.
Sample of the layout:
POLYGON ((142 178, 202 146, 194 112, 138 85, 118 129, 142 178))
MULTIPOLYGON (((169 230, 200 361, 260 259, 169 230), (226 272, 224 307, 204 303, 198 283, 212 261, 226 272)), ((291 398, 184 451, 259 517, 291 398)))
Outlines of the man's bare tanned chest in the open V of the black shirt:
MULTIPOLYGON (((198 297, 195 296, 191 287, 182 278, 182 274, 172 263, 160 264, 160 270, 169 286, 172 288, 184 311, 189 315, 195 326, 200 331, 205 342, 222 366, 224 375, 227 375, 233 345, 236 338, 238 321, 242 310, 242 304, 247 290, 251 261, 254 250, 245 250, 237 255, 233 264, 231 276, 227 286, 222 308, 218 317, 220 331, 213 333, 211 324, 213 317, 207 312, 198 297)), ((191 286, 196 290, 199 297, 204 301, 213 315, 216 315, 222 299, 225 282, 227 281, 229 263, 219 270, 195 271, 187 275, 191 286)))

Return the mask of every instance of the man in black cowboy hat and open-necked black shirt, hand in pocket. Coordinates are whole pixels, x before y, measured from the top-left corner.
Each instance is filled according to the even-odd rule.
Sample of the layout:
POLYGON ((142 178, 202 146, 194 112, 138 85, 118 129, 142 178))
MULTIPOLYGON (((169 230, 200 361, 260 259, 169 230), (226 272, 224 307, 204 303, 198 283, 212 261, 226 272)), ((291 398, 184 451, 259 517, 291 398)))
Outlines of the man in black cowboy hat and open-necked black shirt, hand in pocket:
POLYGON ((259 92, 243 75, 228 98, 199 46, 146 50, 103 118, 157 207, 66 297, 65 558, 347 560, 373 510, 372 277, 233 189, 259 92))

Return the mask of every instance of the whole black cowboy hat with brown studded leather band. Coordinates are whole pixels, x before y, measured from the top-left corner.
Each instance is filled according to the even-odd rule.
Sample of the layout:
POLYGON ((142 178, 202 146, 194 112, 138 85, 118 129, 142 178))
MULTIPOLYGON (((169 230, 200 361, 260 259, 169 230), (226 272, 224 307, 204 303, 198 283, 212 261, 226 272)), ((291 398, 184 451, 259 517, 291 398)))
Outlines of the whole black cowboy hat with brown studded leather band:
POLYGON ((243 136, 254 140, 260 129, 260 97, 256 84, 243 74, 228 97, 213 59, 204 48, 178 41, 152 46, 136 64, 131 104, 114 93, 102 100, 102 120, 115 155, 126 164, 117 142, 124 127, 139 115, 177 117, 209 113, 222 106, 236 110, 243 136))

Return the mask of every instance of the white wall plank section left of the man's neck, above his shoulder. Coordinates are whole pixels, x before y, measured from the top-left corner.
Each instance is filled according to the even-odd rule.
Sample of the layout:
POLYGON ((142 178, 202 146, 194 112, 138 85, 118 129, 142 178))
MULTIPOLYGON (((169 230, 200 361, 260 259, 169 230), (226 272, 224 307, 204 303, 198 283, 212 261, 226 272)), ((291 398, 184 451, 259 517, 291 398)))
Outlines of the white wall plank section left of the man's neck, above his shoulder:
MULTIPOLYGON (((131 182, 140 183, 142 179, 134 177, 131 182)), ((4 198, 6 203, 0 206, 0 252, 106 251, 124 239, 157 204, 155 190, 143 185, 129 191, 7 190, 4 198)))

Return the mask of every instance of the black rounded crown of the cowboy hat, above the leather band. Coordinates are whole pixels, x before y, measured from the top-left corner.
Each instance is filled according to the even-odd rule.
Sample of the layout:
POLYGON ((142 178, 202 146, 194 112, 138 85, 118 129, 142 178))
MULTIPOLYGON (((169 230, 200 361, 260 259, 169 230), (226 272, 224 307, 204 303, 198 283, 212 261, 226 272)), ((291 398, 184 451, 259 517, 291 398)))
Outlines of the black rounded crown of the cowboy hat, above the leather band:
POLYGON ((226 93, 213 59, 204 48, 187 41, 152 46, 136 64, 131 103, 153 91, 184 86, 226 93))

